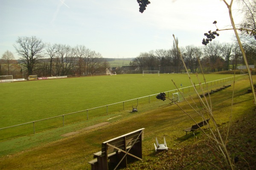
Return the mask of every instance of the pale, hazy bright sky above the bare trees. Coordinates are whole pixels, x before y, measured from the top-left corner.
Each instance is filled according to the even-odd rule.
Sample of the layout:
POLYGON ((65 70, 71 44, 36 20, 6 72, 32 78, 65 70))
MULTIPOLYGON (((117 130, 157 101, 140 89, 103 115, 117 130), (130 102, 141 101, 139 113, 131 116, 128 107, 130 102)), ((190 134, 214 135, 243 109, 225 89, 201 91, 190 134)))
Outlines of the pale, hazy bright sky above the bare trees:
MULTIPOLYGON (((142 14, 137 0, 0 0, 0 57, 9 50, 17 59, 17 38, 36 36, 51 44, 84 45, 105 58, 130 58, 172 48, 172 34, 179 46, 202 46, 204 33, 216 29, 214 20, 219 29, 231 25, 221 0, 150 2, 142 14)), ((219 34, 219 42, 231 42, 234 35, 219 34)))

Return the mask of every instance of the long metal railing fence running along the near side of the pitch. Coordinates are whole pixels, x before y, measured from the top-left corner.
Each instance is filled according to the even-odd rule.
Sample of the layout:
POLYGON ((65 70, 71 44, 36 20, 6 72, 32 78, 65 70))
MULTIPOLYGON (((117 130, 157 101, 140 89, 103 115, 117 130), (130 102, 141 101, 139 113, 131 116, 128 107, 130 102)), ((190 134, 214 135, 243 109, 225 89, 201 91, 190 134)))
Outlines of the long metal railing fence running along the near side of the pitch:
MULTIPOLYGON (((235 76, 235 79, 245 77, 247 74, 241 74, 238 76, 235 76)), ((228 82, 233 80, 234 77, 228 77, 224 79, 218 79, 214 80, 211 82, 206 82, 206 83, 201 83, 201 86, 203 88, 205 87, 210 87, 213 85, 218 85, 224 82, 228 82)), ((179 91, 184 93, 194 91, 195 89, 201 89, 200 84, 198 85, 192 85, 184 88, 179 88, 179 91)), ((166 95, 169 97, 173 93, 177 93, 178 90, 171 90, 171 91, 166 91, 166 95)), ((0 128, 0 136, 3 137, 3 139, 10 138, 13 136, 19 136, 23 134, 28 134, 28 133, 35 133, 37 130, 44 130, 44 129, 49 129, 52 127, 60 127, 60 126, 65 126, 65 124, 71 123, 71 122, 78 122, 84 119, 89 119, 93 118, 95 116, 100 116, 100 115, 108 115, 108 113, 113 112, 113 111, 120 111, 120 110, 125 110, 125 108, 129 108, 133 105, 139 105, 143 103, 150 103, 152 101, 156 101, 156 96, 157 94, 151 94, 149 96, 143 96, 139 97, 136 99, 130 99, 130 100, 125 100, 122 102, 117 102, 109 105, 104 105, 104 106, 99 106, 96 108, 90 108, 86 109, 83 111, 77 111, 73 113, 67 113, 59 116, 54 116, 46 119, 41 119, 41 120, 35 120, 32 122, 26 122, 23 124, 19 125, 13 125, 9 127, 3 127, 0 128), (12 128, 12 130, 10 129, 12 128), (37 129, 37 130, 36 130, 37 129)), ((2 140, 0 137, 0 140, 2 140)))

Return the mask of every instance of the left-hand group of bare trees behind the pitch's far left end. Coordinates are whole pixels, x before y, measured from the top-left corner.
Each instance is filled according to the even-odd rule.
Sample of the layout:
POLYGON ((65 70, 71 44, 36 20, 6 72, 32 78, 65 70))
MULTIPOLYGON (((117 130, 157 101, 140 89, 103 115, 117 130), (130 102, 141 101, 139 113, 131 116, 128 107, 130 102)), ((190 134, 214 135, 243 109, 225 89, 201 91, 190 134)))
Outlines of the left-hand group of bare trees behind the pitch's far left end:
POLYGON ((18 37, 16 42, 14 47, 20 58, 15 60, 13 54, 6 51, 0 59, 0 75, 11 75, 12 71, 38 77, 88 75, 102 73, 109 67, 107 59, 84 45, 51 45, 35 36, 18 37))

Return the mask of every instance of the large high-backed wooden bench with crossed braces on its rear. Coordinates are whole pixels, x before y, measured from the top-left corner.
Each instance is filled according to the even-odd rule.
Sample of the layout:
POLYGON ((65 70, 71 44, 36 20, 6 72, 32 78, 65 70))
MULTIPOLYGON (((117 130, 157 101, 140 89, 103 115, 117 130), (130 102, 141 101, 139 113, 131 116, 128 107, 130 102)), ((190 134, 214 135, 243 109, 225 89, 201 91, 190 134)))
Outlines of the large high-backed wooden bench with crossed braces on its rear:
POLYGON ((112 165, 114 170, 117 167, 127 167, 127 161, 142 160, 142 141, 144 129, 118 136, 102 142, 102 149, 93 153, 91 164, 92 170, 108 170, 112 165))

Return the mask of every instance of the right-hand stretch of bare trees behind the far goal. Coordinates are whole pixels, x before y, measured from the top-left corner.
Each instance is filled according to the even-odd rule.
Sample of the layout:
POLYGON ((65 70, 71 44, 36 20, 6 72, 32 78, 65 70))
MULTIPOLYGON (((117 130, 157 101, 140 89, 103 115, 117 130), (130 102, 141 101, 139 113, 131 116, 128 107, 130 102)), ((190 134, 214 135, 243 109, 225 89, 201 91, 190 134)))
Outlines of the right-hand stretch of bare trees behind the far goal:
MULTIPOLYGON (((180 51, 186 66, 192 73, 201 72, 198 70, 198 59, 204 68, 204 72, 227 71, 244 64, 241 51, 235 42, 220 43, 214 41, 209 45, 200 47, 187 45, 180 47, 180 51)), ((245 48, 245 52, 249 64, 254 65, 256 56, 252 48, 245 48)), ((143 70, 160 70, 161 73, 180 73, 183 71, 183 63, 175 42, 173 42, 170 49, 157 49, 140 53, 134 61, 130 62, 130 66, 138 66, 143 70)))

